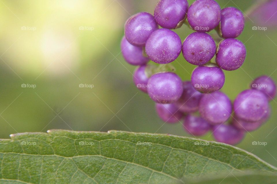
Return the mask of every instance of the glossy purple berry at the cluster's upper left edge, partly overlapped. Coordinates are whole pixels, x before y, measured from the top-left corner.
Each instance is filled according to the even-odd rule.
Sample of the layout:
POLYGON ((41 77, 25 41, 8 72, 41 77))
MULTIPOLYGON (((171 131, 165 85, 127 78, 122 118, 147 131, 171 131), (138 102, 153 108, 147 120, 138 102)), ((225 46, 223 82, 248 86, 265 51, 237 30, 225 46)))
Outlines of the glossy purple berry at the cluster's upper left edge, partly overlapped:
POLYGON ((140 47, 145 46, 150 34, 159 28, 154 16, 147 12, 133 15, 126 21, 124 27, 128 42, 140 47))

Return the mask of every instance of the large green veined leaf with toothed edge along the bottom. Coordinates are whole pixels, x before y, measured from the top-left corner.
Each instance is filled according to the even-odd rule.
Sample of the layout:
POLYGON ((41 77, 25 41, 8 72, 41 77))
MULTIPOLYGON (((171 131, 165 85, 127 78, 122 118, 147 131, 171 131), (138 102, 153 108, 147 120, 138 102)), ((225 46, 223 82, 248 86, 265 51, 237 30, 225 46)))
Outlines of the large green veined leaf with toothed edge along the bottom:
POLYGON ((277 178, 275 167, 223 143, 123 131, 47 132, 0 140, 0 183, 247 183, 247 177, 270 183, 277 178))

